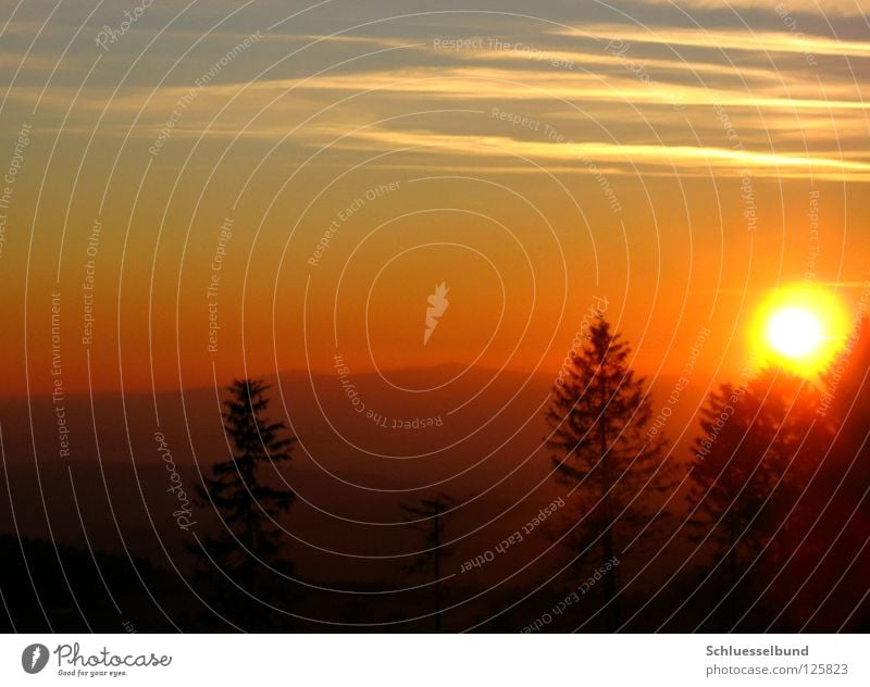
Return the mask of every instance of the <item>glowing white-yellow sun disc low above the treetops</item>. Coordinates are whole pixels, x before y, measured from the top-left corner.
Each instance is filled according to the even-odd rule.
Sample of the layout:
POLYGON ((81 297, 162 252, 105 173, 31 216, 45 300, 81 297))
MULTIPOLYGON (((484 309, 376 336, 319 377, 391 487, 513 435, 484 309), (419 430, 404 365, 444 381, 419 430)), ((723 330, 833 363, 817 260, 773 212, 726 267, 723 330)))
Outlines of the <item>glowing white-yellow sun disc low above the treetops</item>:
POLYGON ((847 326, 832 293, 801 285, 768 298, 754 338, 768 362, 808 376, 822 372, 841 350, 847 326))

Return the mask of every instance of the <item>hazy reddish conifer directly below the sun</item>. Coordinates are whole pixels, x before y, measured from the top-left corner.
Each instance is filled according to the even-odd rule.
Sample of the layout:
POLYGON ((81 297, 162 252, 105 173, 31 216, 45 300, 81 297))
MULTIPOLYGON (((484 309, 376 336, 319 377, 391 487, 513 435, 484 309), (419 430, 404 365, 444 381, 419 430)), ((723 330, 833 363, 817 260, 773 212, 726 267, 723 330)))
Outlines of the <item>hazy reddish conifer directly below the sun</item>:
POLYGON ((725 580, 732 626, 748 566, 761 567, 762 552, 767 563, 782 564, 811 511, 798 499, 832 437, 819 399, 811 380, 770 369, 721 385, 701 409, 689 519, 695 541, 711 548, 725 580))

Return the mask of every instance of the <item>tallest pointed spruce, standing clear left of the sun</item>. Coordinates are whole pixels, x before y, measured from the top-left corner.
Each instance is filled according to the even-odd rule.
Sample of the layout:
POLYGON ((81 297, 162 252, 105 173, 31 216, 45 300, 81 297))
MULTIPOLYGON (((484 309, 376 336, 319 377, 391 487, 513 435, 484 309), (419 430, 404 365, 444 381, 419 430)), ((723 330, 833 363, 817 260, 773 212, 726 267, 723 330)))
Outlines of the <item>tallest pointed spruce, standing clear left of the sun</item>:
MULTIPOLYGON (((599 552, 605 565, 638 533, 655 532, 656 496, 673 486, 674 471, 662 460, 664 439, 647 432, 652 416, 644 379, 629 366, 631 349, 598 316, 581 350, 572 351, 552 390, 546 419, 547 446, 556 451, 556 478, 571 488, 579 522, 569 537, 577 554, 599 552)), ((602 580, 605 621, 620 625, 619 578, 602 580)))

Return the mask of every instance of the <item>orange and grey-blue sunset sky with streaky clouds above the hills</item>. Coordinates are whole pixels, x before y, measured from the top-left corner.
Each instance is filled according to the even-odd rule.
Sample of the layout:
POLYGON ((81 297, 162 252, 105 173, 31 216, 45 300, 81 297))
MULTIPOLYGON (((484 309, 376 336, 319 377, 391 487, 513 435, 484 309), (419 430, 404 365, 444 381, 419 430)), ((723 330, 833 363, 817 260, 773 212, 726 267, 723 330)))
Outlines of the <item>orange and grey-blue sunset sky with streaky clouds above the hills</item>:
POLYGON ((52 293, 67 389, 150 390, 555 374, 601 299, 641 372, 707 327, 724 379, 772 290, 870 278, 867 0, 127 4, 0 10, 10 395, 52 293))

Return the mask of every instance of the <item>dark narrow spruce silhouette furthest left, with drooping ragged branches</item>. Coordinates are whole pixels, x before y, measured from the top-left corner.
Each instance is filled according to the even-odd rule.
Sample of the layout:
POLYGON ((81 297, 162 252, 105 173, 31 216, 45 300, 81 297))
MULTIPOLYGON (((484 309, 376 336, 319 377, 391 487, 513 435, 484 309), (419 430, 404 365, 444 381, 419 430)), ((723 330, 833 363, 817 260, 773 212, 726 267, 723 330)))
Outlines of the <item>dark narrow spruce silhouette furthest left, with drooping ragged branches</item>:
POLYGON ((278 608, 291 599, 281 574, 291 573, 293 565, 281 555, 282 532, 276 523, 295 495, 289 488, 266 486, 259 469, 289 461, 296 439, 287 436, 284 422, 265 417, 268 389, 259 379, 236 379, 226 389, 222 416, 231 458, 213 465, 212 477, 197 485, 200 505, 216 511, 222 528, 219 535, 206 537, 202 548, 192 548, 200 577, 211 582, 217 609, 238 617, 243 628, 254 630, 269 624, 270 614, 240 595, 233 583, 278 608))

